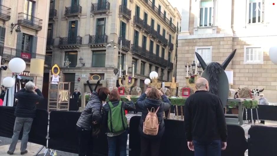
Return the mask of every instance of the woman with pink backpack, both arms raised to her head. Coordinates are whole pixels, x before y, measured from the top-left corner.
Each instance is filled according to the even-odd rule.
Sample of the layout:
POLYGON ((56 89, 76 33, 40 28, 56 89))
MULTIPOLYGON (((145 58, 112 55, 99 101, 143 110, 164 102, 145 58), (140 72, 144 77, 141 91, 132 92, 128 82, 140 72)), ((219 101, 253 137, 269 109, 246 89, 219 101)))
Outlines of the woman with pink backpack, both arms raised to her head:
POLYGON ((169 110, 171 103, 161 91, 152 87, 147 88, 146 92, 138 98, 136 106, 142 110, 139 125, 139 133, 141 135, 141 156, 159 156, 161 138, 164 135, 165 130, 163 115, 164 111, 169 110), (152 112, 152 109, 154 109, 153 113, 155 113, 155 116, 158 118, 158 131, 156 135, 145 134, 145 121, 148 114, 152 112), (151 150, 151 154, 148 152, 149 149, 151 150))

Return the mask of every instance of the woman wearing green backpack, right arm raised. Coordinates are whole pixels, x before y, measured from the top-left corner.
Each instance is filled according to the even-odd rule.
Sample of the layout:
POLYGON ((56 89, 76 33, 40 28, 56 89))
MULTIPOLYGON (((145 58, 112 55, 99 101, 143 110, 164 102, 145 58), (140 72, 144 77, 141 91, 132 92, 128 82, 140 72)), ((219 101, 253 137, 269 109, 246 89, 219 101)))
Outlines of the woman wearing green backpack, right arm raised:
POLYGON ((105 118, 107 122, 107 138, 109 152, 108 156, 115 156, 117 142, 119 142, 120 156, 126 156, 127 139, 128 139, 128 123, 125 116, 125 110, 136 109, 135 104, 131 101, 130 96, 126 97, 129 102, 120 101, 120 95, 116 89, 112 90, 109 96, 109 101, 104 106, 105 118))

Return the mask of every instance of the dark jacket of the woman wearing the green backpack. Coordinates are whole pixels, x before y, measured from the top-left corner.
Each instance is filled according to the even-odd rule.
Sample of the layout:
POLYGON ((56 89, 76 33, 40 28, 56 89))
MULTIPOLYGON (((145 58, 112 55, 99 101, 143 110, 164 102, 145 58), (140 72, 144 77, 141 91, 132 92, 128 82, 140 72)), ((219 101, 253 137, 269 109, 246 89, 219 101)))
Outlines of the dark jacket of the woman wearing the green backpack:
MULTIPOLYGON (((119 104, 119 101, 113 101, 112 102, 113 106, 117 106, 119 104)), ((122 107, 123 110, 128 110, 128 111, 133 111, 134 109, 136 109, 135 104, 133 103, 133 101, 129 101, 128 103, 123 102, 122 101, 122 107)), ((110 130, 108 129, 108 113, 109 113, 110 107, 109 104, 107 102, 107 104, 105 104, 105 106, 103 107, 103 126, 105 127, 105 129, 107 129, 107 133, 110 133, 110 130)), ((121 119, 120 119, 121 120, 121 119)))

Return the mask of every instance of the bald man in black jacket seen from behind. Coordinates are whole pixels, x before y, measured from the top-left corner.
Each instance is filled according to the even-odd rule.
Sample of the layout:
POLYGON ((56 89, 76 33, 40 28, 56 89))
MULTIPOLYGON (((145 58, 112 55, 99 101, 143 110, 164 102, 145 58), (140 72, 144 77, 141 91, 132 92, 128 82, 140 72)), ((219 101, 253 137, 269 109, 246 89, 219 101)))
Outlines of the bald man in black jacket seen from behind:
POLYGON ((197 91, 185 102, 185 129, 189 150, 195 156, 221 156, 227 147, 227 126, 220 98, 209 93, 205 78, 196 81, 197 91))

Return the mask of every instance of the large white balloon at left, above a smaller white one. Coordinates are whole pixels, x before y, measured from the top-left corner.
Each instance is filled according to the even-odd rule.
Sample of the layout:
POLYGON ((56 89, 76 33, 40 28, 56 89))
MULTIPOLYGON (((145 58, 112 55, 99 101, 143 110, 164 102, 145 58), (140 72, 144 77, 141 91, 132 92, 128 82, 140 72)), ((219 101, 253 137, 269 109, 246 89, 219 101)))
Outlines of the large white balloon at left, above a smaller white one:
POLYGON ((21 58, 13 58, 10 60, 8 67, 11 70, 11 72, 19 74, 25 70, 26 63, 21 58))

